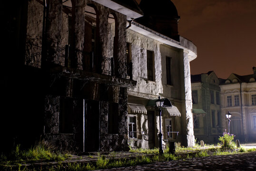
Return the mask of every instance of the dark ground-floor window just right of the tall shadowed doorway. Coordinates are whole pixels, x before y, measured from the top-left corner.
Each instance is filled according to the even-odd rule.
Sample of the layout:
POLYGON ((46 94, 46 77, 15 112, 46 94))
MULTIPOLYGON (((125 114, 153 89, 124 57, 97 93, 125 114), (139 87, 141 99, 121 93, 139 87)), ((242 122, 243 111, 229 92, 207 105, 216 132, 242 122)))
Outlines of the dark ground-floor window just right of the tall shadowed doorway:
POLYGON ((118 133, 118 104, 108 104, 108 133, 118 133))

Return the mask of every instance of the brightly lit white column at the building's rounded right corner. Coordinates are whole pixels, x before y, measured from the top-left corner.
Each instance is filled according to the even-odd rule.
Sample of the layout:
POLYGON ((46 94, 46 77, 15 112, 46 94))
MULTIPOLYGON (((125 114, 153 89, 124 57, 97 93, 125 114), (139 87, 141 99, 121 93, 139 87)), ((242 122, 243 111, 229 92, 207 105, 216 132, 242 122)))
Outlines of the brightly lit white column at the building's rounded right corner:
MULTIPOLYGON (((182 54, 180 54, 182 55, 182 54)), ((182 135, 183 143, 187 147, 193 147, 195 145, 195 136, 193 130, 193 115, 192 115, 192 95, 191 95, 191 81, 190 81, 190 66, 188 60, 188 52, 183 51, 183 73, 184 79, 181 80, 181 84, 184 87, 182 90, 182 96, 184 103, 182 105, 182 135)))

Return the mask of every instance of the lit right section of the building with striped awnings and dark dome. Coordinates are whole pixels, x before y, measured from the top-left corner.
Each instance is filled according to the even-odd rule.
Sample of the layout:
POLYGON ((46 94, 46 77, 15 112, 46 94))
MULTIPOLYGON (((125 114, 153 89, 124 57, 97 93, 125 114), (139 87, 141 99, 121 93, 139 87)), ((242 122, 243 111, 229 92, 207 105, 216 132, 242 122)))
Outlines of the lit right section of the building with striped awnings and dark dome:
POLYGON ((127 30, 127 58, 137 81, 128 91, 128 142, 133 148, 158 147, 160 95, 173 104, 162 112, 163 145, 194 146, 189 62, 197 48, 178 35, 179 16, 170 0, 142 0, 139 7, 144 16, 127 30))

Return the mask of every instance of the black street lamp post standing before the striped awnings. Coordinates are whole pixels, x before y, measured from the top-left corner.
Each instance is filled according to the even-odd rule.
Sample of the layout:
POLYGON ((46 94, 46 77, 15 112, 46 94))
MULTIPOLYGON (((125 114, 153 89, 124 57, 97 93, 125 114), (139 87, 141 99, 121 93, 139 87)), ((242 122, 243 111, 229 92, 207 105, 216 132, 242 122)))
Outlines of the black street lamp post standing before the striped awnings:
POLYGON ((156 101, 156 105, 158 107, 159 111, 159 154, 163 154, 163 147, 162 147, 162 136, 163 134, 161 133, 161 114, 162 114, 162 107, 171 107, 172 104, 171 102, 166 98, 164 101, 160 100, 160 95, 158 96, 158 100, 156 101))

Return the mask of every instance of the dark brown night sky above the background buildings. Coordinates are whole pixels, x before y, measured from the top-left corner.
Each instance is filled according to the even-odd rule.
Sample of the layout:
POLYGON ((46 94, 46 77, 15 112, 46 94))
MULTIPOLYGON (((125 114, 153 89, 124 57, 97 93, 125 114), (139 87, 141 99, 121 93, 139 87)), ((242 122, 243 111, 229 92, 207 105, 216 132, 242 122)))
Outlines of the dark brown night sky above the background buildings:
MULTIPOLYGON (((140 0, 137 0, 138 2, 140 0)), ((157 2, 158 0, 156 0, 157 2)), ((256 66, 256 0, 172 0, 179 34, 197 46, 191 74, 252 74, 256 66)))

